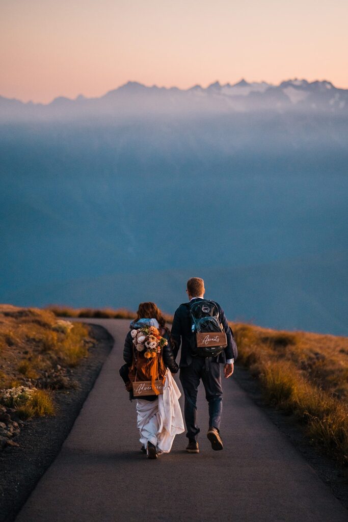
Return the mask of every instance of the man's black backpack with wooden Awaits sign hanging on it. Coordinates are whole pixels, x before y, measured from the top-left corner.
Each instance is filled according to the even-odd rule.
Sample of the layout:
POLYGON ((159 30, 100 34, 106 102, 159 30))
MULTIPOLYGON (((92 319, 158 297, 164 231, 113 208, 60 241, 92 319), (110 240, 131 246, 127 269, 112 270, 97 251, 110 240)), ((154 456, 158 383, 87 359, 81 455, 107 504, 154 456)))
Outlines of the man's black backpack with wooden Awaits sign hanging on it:
POLYGON ((200 357, 217 357, 227 346, 217 303, 208 299, 188 303, 191 321, 191 350, 200 357))

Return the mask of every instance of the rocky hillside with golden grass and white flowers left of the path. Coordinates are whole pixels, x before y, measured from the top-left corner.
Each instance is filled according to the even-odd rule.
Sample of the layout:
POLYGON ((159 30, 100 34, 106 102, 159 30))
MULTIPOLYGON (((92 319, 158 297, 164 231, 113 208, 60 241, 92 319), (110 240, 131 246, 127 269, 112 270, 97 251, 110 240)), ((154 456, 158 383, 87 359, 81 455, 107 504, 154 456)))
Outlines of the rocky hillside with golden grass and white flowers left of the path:
POLYGON ((85 325, 0 305, 0 448, 18 433, 19 419, 55 413, 54 390, 76 386, 69 368, 92 342, 85 325))

